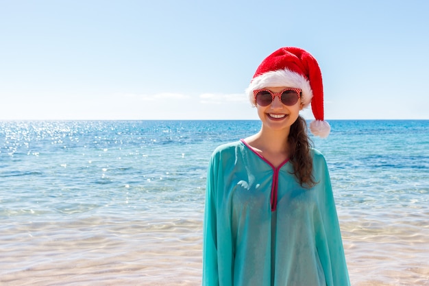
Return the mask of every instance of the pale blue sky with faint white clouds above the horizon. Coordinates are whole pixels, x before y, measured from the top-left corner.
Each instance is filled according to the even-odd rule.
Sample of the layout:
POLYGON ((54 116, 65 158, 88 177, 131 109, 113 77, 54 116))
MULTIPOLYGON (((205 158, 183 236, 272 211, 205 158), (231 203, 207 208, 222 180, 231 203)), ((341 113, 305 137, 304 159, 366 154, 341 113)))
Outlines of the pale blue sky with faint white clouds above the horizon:
POLYGON ((288 46, 319 62, 327 120, 429 119, 428 12, 426 0, 0 0, 0 120, 258 119, 245 88, 288 46))

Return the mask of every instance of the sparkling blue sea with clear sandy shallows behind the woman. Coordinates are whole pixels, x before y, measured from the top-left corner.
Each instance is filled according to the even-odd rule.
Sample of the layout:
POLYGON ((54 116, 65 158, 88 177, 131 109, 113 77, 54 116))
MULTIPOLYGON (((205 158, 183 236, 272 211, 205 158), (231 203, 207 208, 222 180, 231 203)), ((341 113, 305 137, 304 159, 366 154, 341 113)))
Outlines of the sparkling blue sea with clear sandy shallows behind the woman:
MULTIPOLYGON (((429 121, 330 121, 354 286, 429 285, 429 121)), ((206 169, 259 121, 0 121, 0 285, 200 285, 206 169)))

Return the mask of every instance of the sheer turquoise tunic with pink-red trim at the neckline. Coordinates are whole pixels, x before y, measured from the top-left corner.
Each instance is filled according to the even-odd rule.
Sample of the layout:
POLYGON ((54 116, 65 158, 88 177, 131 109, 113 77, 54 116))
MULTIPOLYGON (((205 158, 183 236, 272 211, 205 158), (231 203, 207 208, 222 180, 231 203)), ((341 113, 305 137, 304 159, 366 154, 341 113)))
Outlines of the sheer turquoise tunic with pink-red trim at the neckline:
POLYGON ((325 158, 303 189, 244 141, 219 146, 208 167, 203 285, 350 285, 325 158))

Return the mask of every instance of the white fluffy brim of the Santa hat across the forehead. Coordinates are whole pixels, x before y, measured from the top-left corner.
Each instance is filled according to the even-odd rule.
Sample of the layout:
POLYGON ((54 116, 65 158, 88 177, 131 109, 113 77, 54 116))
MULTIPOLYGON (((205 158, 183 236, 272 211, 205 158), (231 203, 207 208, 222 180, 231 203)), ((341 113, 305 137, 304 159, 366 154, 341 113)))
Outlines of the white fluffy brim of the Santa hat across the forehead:
POLYGON ((279 69, 277 71, 268 71, 267 73, 258 75, 252 80, 252 82, 250 82, 249 87, 246 88, 246 94, 252 105, 256 106, 254 99, 254 91, 256 89, 279 86, 301 88, 301 102, 304 105, 303 107, 306 108, 310 104, 312 99, 310 82, 304 78, 303 75, 295 73, 287 68, 279 69))

